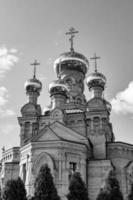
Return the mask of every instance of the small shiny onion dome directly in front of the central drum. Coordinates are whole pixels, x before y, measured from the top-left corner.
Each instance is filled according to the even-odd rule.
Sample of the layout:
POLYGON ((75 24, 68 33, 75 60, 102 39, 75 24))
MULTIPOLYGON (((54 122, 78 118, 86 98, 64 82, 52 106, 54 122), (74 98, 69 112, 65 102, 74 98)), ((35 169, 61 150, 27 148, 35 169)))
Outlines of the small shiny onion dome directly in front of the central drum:
POLYGON ((61 80, 55 80, 49 84, 49 93, 51 96, 55 94, 62 94, 67 96, 67 92, 67 86, 63 84, 61 80))

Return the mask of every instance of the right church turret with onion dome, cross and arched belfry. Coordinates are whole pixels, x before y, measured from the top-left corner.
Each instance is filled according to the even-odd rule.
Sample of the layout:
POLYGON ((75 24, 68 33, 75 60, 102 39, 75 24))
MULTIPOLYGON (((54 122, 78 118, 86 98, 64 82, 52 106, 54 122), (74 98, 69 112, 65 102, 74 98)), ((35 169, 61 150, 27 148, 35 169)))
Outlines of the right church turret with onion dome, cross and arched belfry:
POLYGON ((111 105, 104 99, 103 92, 106 85, 106 77, 97 70, 96 54, 95 70, 87 77, 87 85, 91 92, 91 99, 87 102, 87 136, 93 144, 93 156, 96 159, 106 158, 106 142, 114 140, 112 125, 110 123, 111 105))

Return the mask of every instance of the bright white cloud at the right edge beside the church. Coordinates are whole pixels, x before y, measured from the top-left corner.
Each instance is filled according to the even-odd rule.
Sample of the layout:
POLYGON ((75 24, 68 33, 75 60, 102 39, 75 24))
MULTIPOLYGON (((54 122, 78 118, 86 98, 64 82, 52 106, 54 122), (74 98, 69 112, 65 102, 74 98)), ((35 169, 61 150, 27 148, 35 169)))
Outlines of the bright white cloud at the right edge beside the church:
POLYGON ((115 98, 111 100, 112 109, 116 113, 133 114, 133 81, 128 87, 119 92, 115 98))

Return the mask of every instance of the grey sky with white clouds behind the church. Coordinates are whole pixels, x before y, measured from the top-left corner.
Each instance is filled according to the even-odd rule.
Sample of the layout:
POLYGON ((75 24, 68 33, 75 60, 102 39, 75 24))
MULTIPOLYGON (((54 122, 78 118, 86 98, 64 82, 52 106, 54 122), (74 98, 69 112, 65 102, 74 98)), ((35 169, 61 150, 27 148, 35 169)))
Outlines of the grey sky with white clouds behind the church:
MULTIPOLYGON (((53 63, 69 51, 70 27, 79 31, 75 51, 101 57, 98 71, 107 78, 104 96, 112 104, 116 141, 133 143, 133 1, 0 0, 0 149, 19 145, 17 117, 28 102, 24 83, 33 75, 34 59, 40 62, 42 110, 50 103, 53 63)), ((93 68, 90 61, 88 74, 93 68)), ((89 100, 87 87, 85 95, 89 100)))

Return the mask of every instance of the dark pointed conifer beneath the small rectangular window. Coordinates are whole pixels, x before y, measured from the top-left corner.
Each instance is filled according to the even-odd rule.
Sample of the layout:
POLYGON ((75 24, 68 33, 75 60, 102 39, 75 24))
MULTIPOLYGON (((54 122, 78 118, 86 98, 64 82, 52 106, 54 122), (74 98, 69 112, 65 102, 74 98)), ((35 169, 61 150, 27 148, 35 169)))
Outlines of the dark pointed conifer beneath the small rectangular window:
POLYGON ((68 200, 89 200, 88 191, 79 172, 75 172, 70 179, 68 200))

